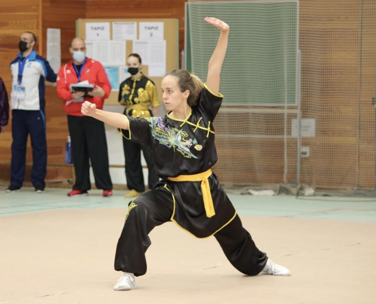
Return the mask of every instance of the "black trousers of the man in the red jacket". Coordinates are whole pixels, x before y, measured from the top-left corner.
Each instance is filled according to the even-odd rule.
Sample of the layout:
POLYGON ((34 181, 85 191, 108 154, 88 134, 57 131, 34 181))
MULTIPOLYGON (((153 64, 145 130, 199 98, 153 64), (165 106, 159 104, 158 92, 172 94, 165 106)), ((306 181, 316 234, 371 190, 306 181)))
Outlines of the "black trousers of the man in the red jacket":
POLYGON ((89 116, 68 115, 72 158, 76 182, 73 190, 89 190, 89 158, 98 189, 112 189, 108 150, 103 122, 89 116))

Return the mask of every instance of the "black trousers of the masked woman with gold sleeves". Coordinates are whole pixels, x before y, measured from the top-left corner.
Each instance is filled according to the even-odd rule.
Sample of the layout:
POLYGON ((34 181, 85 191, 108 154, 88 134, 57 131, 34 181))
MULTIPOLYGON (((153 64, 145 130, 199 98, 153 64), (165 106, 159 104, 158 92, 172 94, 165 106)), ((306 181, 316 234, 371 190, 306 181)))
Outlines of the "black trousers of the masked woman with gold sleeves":
POLYGON ((123 137, 124 157, 125 157, 125 177, 127 179, 127 187, 129 190, 138 192, 145 191, 144 175, 141 166, 141 150, 146 160, 149 170, 148 185, 150 189, 154 189, 159 181, 158 175, 154 169, 153 152, 149 146, 135 143, 123 137))

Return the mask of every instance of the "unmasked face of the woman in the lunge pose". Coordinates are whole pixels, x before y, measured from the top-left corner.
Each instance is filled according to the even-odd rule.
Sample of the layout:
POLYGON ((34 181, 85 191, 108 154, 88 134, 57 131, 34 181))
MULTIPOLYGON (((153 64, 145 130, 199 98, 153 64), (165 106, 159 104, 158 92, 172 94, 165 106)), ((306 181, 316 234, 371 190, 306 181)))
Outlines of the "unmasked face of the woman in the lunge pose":
POLYGON ((180 91, 177 81, 177 77, 172 75, 167 75, 162 80, 162 99, 167 111, 174 111, 187 103, 190 92, 180 91))

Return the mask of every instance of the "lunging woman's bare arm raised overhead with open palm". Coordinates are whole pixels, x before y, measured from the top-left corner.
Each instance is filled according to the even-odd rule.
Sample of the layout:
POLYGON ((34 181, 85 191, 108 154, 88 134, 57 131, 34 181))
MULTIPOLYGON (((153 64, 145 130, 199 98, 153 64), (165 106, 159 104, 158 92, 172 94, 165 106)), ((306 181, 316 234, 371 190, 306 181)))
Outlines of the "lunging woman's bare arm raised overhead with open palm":
POLYGON ((206 78, 206 85, 208 88, 215 94, 219 93, 219 84, 220 84, 220 74, 222 69, 222 64, 224 56, 226 55, 227 50, 227 41, 229 38, 229 29, 228 24, 223 21, 214 18, 206 17, 204 19, 207 23, 212 24, 218 29, 221 30, 221 33, 218 38, 217 46, 209 60, 208 65, 208 77, 206 78))

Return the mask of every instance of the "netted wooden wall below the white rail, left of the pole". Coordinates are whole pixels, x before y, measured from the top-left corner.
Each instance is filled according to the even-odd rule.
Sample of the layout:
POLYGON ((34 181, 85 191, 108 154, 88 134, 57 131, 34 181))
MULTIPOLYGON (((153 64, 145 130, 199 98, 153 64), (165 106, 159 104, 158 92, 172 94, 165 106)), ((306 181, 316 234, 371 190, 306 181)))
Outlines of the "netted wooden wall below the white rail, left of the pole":
MULTIPOLYGON (((219 133, 217 133, 220 135, 219 133)), ((284 140, 216 136, 218 163, 213 171, 225 185, 283 183, 284 140), (234 148, 235 151, 234 152, 234 148)), ((288 140, 289 182, 296 182, 296 140, 288 140)))

